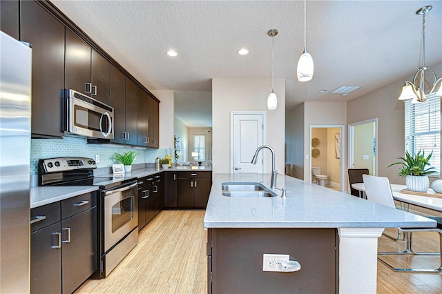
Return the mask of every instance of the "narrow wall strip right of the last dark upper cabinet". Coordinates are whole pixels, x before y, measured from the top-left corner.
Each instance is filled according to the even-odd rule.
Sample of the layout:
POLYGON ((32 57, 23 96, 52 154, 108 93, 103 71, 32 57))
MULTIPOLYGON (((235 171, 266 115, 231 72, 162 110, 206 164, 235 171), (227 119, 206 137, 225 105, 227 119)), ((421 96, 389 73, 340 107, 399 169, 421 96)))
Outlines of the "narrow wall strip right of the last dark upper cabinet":
POLYGON ((175 94, 173 90, 151 90, 160 103, 160 148, 174 148, 173 120, 175 118, 175 94))

